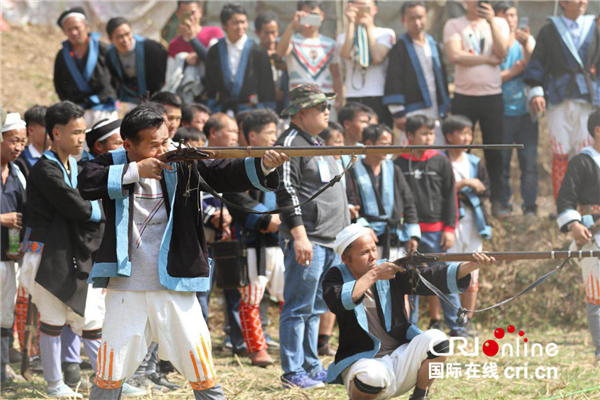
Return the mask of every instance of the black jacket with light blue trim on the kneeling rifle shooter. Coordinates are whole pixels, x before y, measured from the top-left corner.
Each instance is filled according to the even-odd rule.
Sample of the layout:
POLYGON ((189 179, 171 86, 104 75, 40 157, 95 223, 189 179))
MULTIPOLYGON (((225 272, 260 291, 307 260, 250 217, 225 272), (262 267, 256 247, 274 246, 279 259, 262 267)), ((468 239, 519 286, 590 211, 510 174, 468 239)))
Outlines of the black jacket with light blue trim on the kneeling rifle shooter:
MULTIPOLYGON (((471 283, 471 275, 457 280, 459 263, 436 265, 420 269, 421 275, 443 293, 464 292, 471 283)), ((350 269, 341 264, 327 272, 323 281, 323 298, 327 307, 337 318, 340 328, 340 343, 335 360, 327 369, 328 383, 342 383, 342 372, 363 358, 374 358, 381 348, 381 341, 369 332, 367 314, 362 304, 364 296, 356 303, 352 291, 356 278, 350 269)), ((409 322, 406 315, 405 294, 430 296, 434 293, 420 284, 412 289, 409 272, 396 274, 396 278, 380 280, 373 290, 377 313, 382 327, 400 344, 410 342, 421 330, 409 322)))

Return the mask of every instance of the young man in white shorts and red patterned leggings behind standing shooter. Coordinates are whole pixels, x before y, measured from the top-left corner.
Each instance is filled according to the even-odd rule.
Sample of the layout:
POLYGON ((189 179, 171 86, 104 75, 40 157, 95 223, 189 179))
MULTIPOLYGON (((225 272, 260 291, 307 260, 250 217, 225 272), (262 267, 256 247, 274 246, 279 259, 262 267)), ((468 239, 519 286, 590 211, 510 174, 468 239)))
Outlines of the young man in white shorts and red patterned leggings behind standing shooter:
MULTIPOLYGON (((244 118, 244 136, 250 146, 271 147, 277 141, 279 118, 272 110, 254 110, 244 118)), ((275 208, 273 192, 251 190, 230 193, 226 198, 240 206, 257 211, 275 208)), ((252 365, 266 367, 274 363, 267 353, 267 340, 261 324, 259 306, 267 289, 271 296, 283 302, 283 252, 279 247, 278 214, 247 214, 230 208, 238 240, 246 238, 250 283, 239 289, 239 314, 242 334, 252 365)))

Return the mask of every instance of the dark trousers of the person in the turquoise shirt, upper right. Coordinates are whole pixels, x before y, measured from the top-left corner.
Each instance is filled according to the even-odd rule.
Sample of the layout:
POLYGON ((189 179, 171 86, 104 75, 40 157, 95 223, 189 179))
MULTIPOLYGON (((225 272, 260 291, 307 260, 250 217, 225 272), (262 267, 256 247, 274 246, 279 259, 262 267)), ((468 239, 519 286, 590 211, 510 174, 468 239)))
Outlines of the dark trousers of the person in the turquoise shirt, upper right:
MULTIPOLYGON (((523 208, 535 208, 538 194, 538 123, 532 122, 529 114, 518 117, 504 117, 502 129, 503 144, 522 144, 523 148, 517 150, 519 167, 521 169, 521 198, 523 208)), ((500 201, 502 205, 509 206, 510 196, 510 159, 512 150, 502 152, 502 185, 500 201)))

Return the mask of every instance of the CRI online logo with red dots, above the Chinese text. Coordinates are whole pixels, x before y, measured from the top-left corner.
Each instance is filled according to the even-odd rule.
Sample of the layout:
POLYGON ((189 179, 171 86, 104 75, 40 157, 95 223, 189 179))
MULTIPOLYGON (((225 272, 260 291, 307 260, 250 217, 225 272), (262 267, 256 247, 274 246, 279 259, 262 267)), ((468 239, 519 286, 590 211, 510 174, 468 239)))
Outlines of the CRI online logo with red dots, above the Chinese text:
MULTIPOLYGON (((506 332, 508 332, 509 334, 514 334, 516 332, 516 329, 513 325, 509 325, 506 328, 506 332)), ((505 337, 508 339, 510 336, 507 335, 506 332, 502 328, 497 328, 494 331, 494 336, 498 340, 504 339, 505 337)), ((495 339, 486 340, 483 343, 483 346, 481 346, 481 349, 483 350, 483 354, 485 354, 488 357, 494 357, 498 355, 498 353, 500 353, 502 357, 542 357, 544 356, 544 353, 549 357, 555 357, 556 355, 558 355, 558 346, 556 345, 556 343, 549 343, 546 345, 545 348, 540 343, 534 343, 531 345, 530 348, 527 343, 528 340, 524 336, 525 332, 521 330, 519 331, 518 335, 514 336, 514 345, 510 342, 506 342, 502 345, 502 347, 500 347, 500 345, 495 339), (521 338, 523 338, 522 341, 520 340, 521 338)), ((432 354, 440 357, 454 355, 454 349, 456 348, 464 356, 476 357, 479 355, 479 338, 476 337, 473 340, 475 344, 475 349, 473 352, 467 351, 467 339, 460 336, 450 337, 448 339, 450 345, 447 353, 436 352, 432 346, 433 342, 431 343, 429 350, 432 354)))

